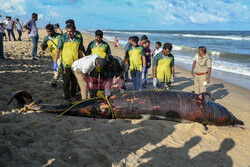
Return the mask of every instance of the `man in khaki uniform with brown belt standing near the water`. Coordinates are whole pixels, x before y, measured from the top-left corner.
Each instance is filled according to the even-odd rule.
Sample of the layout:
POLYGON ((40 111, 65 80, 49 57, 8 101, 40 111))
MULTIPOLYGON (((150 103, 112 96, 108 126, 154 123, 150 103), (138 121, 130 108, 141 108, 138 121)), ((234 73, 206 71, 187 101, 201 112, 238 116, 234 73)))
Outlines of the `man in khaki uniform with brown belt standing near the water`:
POLYGON ((210 83, 212 59, 208 57, 206 53, 206 47, 200 46, 198 48, 198 54, 195 55, 192 65, 191 74, 194 78, 194 91, 197 94, 207 92, 206 86, 210 83))

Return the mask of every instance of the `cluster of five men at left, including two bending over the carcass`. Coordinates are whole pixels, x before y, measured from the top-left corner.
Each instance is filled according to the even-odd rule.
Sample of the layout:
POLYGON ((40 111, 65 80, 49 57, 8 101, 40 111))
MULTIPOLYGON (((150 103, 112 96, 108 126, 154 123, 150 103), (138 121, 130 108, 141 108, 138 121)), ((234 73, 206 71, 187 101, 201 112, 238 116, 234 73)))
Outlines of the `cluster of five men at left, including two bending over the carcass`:
POLYGON ((52 24, 46 25, 45 29, 48 35, 41 48, 49 48, 54 62, 53 86, 57 85, 58 76, 62 74, 66 100, 76 97, 78 85, 82 99, 103 93, 109 96, 114 76, 119 80, 119 90, 124 92, 123 60, 111 55, 109 44, 102 40, 101 30, 95 32, 95 40, 85 49, 82 34, 76 30, 74 20, 66 21, 64 34, 57 33, 52 24))

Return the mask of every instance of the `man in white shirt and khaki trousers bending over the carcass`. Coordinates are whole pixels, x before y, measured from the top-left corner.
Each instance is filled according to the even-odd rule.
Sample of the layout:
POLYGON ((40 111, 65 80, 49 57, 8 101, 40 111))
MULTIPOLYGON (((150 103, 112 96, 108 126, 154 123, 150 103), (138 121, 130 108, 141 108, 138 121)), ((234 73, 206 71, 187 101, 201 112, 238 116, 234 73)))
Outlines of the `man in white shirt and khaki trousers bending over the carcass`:
POLYGON ((93 79, 88 77, 88 73, 94 70, 96 66, 103 68, 105 65, 106 61, 96 54, 85 56, 72 64, 71 69, 77 78, 83 100, 90 97, 88 89, 96 89, 93 85, 93 79))

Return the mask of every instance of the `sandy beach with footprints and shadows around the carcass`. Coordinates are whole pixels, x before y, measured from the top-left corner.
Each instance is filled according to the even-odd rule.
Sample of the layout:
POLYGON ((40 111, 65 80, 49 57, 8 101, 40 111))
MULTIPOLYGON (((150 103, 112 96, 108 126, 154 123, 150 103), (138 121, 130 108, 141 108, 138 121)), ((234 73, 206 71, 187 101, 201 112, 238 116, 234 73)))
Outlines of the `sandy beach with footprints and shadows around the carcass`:
MULTIPOLYGON (((40 45, 45 30, 39 30, 39 35, 40 45)), ((83 39, 87 48, 94 37, 84 33, 83 39)), ((124 56, 123 47, 115 48, 105 41, 112 55, 124 56)), ((12 92, 26 90, 44 104, 66 103, 62 81, 51 87, 50 55, 31 60, 31 48, 26 33, 21 42, 4 42, 6 59, 0 61, 0 166, 250 166, 250 91, 215 78, 208 86, 212 98, 244 126, 211 125, 205 130, 199 123, 147 118, 56 119, 55 114, 31 110, 13 121, 19 108, 15 103, 6 106, 12 92), (37 123, 30 124, 34 121, 37 123)), ((172 88, 191 92, 194 82, 190 71, 176 65, 172 88)))

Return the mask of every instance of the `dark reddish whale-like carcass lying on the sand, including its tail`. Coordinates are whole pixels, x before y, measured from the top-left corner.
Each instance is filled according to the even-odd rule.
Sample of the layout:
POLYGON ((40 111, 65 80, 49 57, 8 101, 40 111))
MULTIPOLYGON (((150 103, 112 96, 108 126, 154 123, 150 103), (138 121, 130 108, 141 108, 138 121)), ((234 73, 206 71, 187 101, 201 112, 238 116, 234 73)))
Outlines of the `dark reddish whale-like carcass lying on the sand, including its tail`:
MULTIPOLYGON (((19 103, 30 104, 33 99, 26 91, 13 93, 19 103)), ((222 105, 212 101, 207 94, 194 94, 183 91, 145 90, 115 94, 108 99, 93 98, 71 105, 34 104, 31 110, 50 113, 65 113, 96 118, 139 119, 150 115, 152 119, 193 121, 203 125, 244 125, 222 105), (72 106, 73 105, 73 106, 72 106)))

